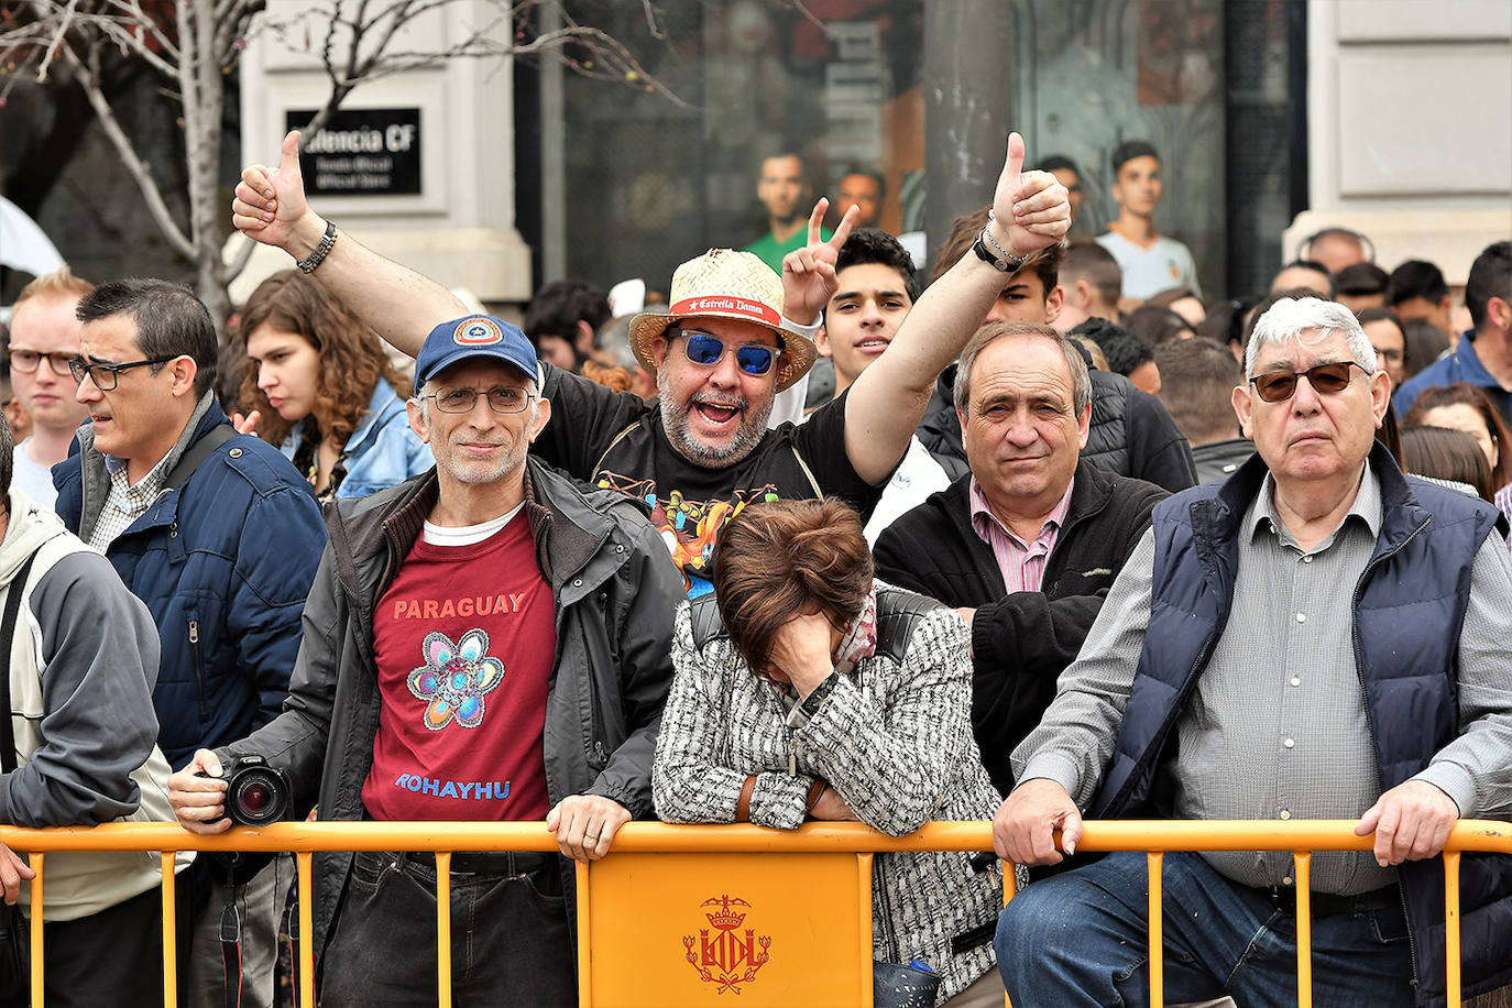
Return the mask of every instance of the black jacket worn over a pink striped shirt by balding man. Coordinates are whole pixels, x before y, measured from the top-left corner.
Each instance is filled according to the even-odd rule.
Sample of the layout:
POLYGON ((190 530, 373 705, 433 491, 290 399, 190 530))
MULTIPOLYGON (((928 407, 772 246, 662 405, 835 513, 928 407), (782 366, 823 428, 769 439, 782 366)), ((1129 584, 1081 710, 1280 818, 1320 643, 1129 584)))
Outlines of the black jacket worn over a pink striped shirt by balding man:
POLYGON ((975 608, 971 725, 993 786, 1009 793, 1013 748, 1034 730, 1098 618, 1113 579, 1166 491, 1077 464, 1070 509, 1045 564, 1043 591, 1007 594, 992 547, 971 527, 971 476, 933 494, 877 540, 877 576, 975 608))

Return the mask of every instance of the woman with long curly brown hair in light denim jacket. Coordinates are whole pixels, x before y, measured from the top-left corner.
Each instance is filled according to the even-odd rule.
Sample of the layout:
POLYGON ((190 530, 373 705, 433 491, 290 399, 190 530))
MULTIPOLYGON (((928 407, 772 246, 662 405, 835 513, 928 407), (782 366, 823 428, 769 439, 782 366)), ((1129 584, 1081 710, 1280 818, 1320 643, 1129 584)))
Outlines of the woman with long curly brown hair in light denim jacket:
POLYGON ((410 429, 410 381, 378 334, 296 269, 265 280, 242 311, 242 405, 316 497, 361 497, 423 473, 431 452, 410 429))

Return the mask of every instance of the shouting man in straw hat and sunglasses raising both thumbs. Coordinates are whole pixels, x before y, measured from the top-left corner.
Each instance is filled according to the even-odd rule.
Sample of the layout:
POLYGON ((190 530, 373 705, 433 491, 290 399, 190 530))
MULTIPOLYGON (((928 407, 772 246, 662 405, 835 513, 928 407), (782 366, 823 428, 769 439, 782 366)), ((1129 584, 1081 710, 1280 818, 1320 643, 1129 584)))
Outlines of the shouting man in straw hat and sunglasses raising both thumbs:
MULTIPOLYGON (((384 339, 417 352, 417 334, 457 313, 452 295, 357 242, 304 199, 298 135, 277 169, 242 172, 233 221, 249 237, 304 257, 302 266, 384 339)), ((656 375, 658 400, 611 393, 555 367, 541 391, 556 419, 535 453, 578 479, 644 500, 689 594, 706 577, 724 521, 751 500, 836 496, 862 512, 909 447, 934 378, 956 358, 1012 274, 1069 228, 1064 186, 1022 172, 1024 141, 1009 138, 993 219, 966 255, 919 299, 888 354, 801 426, 767 429, 773 397, 809 370, 820 311, 836 290, 835 260, 857 210, 821 239, 829 201, 809 218, 809 243, 779 278, 748 252, 714 249, 673 275, 664 316, 631 323, 637 358, 656 375)))

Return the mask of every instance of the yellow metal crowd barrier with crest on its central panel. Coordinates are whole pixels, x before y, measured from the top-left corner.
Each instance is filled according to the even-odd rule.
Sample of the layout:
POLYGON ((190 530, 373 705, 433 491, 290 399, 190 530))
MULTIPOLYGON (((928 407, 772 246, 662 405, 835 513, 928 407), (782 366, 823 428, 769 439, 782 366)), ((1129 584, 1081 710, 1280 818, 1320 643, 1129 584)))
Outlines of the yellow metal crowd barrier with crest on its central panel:
MULTIPOLYGON (((1087 822, 1081 851, 1148 851, 1151 870, 1151 1002, 1161 1005, 1160 869, 1164 851, 1291 851, 1297 880, 1297 1000, 1311 1005, 1309 851, 1368 851, 1353 821, 1087 822)), ((313 934, 311 852, 434 851, 437 884, 437 996, 451 1005, 452 851, 555 851, 543 824, 302 822, 201 837, 174 824, 94 828, 0 827, 0 842, 30 854, 33 907, 42 905, 51 851, 162 851, 163 991, 177 1005, 174 851, 293 851, 299 934, 313 934)), ((671 827, 632 822, 609 857, 578 866, 579 1002, 603 1008, 644 1003, 724 1003, 739 990, 753 1005, 871 1005, 871 864, 895 851, 986 851, 990 824, 936 822, 906 837, 859 824, 810 824, 794 833, 751 825, 671 827), (764 857, 744 857, 761 854, 764 857), (674 857, 673 857, 674 855, 674 857), (712 925, 712 926, 705 926, 712 925), (826 991, 815 996, 815 990, 826 991)), ((1445 976, 1459 1002, 1459 854, 1512 854, 1512 827, 1465 821, 1444 854, 1445 976)), ((1005 899, 1013 873, 1005 873, 1005 899)), ((314 1005, 313 949, 299 949, 299 1003, 314 1005)), ((32 916, 32 1003, 44 1003, 42 914, 32 916)))

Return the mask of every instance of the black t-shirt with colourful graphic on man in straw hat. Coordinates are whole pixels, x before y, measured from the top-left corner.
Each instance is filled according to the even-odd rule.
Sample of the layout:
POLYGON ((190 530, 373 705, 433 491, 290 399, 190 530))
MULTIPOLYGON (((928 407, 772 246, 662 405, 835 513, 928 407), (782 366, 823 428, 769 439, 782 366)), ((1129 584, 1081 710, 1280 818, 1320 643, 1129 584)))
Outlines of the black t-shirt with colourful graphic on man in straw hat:
POLYGON ((543 367, 552 419, 532 452, 576 479, 644 500, 689 597, 711 589, 708 571, 720 529, 747 503, 839 497, 865 523, 886 485, 863 481, 845 455, 844 394, 807 423, 767 431, 733 465, 708 468, 671 446, 655 402, 543 367))

